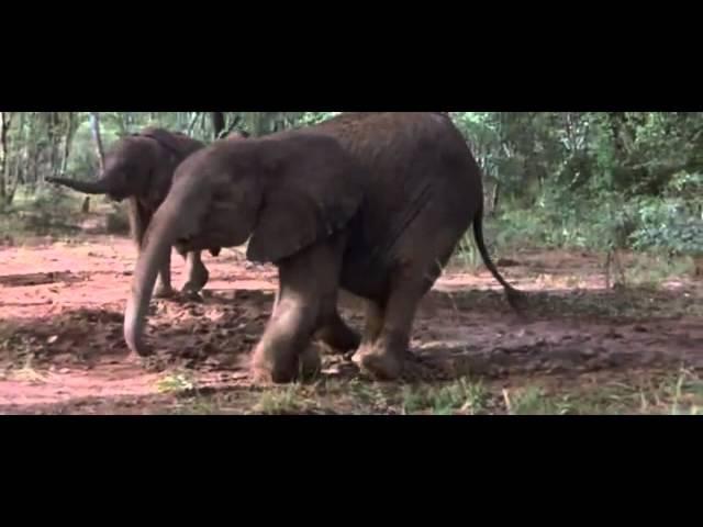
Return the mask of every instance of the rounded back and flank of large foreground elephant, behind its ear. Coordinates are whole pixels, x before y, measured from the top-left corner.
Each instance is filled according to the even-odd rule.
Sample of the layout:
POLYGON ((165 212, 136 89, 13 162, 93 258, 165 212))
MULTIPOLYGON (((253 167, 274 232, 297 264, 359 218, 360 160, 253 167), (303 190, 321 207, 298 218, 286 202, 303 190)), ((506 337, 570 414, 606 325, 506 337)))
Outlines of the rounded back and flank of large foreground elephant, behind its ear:
POLYGON ((309 132, 336 138, 368 175, 347 247, 350 274, 383 277, 415 258, 416 239, 436 239, 426 249, 444 256, 481 206, 480 169, 445 113, 346 113, 309 132))

